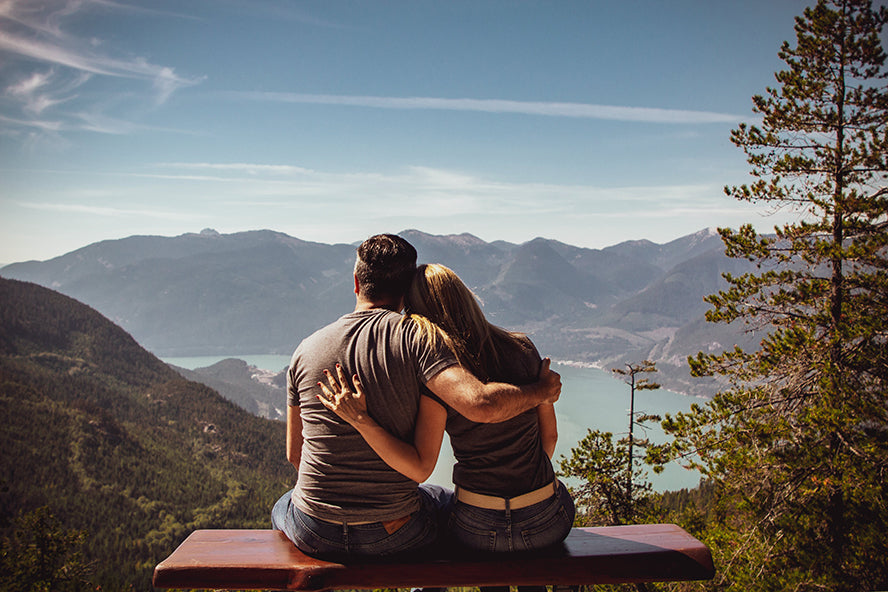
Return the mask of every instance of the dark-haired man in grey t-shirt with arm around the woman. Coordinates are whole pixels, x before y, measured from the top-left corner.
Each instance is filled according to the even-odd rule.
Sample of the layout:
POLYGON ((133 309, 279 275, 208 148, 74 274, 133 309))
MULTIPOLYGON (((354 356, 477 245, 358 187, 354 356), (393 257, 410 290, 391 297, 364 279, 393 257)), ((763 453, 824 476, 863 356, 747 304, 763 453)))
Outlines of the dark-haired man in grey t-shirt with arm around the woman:
POLYGON ((318 399, 326 369, 341 364, 361 377, 368 413, 412 441, 424 384, 464 416, 504 421, 558 399, 561 380, 545 364, 540 381, 483 384, 443 345, 415 338, 399 311, 416 270, 416 249, 396 235, 376 235, 357 251, 355 310, 306 338, 287 372, 287 458, 296 487, 278 500, 272 523, 302 551, 321 557, 382 556, 435 541, 449 500, 390 468, 348 423, 318 399))

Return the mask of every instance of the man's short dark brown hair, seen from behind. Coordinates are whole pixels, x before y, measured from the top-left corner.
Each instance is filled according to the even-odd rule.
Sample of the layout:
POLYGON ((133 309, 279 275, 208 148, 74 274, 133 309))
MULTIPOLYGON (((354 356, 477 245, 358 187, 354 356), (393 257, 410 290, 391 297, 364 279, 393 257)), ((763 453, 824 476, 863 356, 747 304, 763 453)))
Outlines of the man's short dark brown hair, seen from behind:
POLYGON ((369 300, 400 300, 416 272, 416 249, 396 234, 371 236, 358 247, 355 276, 369 300))

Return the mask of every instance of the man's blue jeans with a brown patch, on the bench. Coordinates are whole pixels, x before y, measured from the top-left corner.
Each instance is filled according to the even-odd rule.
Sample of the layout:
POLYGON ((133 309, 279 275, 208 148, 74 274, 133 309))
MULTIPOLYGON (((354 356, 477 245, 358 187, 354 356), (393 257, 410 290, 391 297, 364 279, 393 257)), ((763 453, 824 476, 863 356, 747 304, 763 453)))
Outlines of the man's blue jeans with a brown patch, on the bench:
POLYGON ((453 493, 436 485, 421 485, 419 493, 420 510, 391 534, 381 522, 343 525, 312 518, 293 504, 291 491, 272 508, 271 525, 313 557, 342 560, 408 554, 437 542, 453 503, 453 493))

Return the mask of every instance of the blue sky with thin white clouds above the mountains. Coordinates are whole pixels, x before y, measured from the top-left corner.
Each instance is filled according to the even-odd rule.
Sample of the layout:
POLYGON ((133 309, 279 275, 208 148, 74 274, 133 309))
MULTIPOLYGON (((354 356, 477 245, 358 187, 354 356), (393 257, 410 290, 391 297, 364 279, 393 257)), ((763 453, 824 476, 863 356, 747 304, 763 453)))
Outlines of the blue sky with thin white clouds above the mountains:
MULTIPOLYGON (((813 0, 811 0, 813 2, 813 0)), ((272 229, 602 248, 724 194, 805 0, 0 0, 0 264, 272 229)))

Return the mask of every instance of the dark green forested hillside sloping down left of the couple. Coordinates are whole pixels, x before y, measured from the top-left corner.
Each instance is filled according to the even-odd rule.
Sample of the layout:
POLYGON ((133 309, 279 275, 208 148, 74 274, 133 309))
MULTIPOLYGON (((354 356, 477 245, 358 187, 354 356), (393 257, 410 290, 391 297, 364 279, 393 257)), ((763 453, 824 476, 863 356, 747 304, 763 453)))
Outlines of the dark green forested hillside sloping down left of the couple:
POLYGON ((27 577, 27 537, 83 531, 67 551, 83 553, 93 589, 150 589, 156 562, 191 530, 267 528, 294 477, 281 422, 184 380, 91 308, 5 279, 0 410, 7 584, 27 577))

